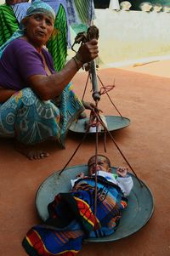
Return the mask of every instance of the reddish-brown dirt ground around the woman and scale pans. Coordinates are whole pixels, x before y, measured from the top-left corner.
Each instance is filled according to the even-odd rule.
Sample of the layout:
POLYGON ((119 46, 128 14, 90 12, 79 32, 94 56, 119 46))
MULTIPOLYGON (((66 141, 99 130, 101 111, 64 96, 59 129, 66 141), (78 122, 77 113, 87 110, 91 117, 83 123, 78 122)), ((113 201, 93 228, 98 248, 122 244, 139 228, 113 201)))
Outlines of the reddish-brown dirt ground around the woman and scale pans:
MULTIPOLYGON (((170 255, 170 79, 163 73, 163 64, 159 63, 157 70, 152 65, 138 66, 138 70, 137 67, 135 70, 133 67, 127 67, 127 70, 102 69, 98 75, 105 85, 111 85, 115 80, 111 99, 122 116, 130 118, 131 124, 112 135, 139 179, 150 187, 155 200, 154 214, 133 236, 116 242, 84 244, 80 256, 170 255)), ((165 69, 169 70, 169 66, 166 62, 165 69)), ((86 80, 87 73, 84 72, 79 72, 73 79, 80 97, 86 80)), ((92 100, 91 94, 89 86, 85 100, 92 100)), ((117 115, 106 95, 102 95, 99 108, 105 115, 117 115)), ((80 134, 70 132, 65 150, 54 142, 44 144, 50 156, 37 161, 29 161, 14 151, 12 139, 0 139, 1 256, 27 255, 21 241, 32 225, 40 223, 35 207, 37 188, 50 174, 64 167, 81 139, 80 134)), ((94 151, 95 139, 90 136, 69 165, 87 163, 94 151)), ((102 136, 99 138, 99 153, 105 153, 102 136)), ((126 164, 110 137, 106 155, 111 158, 113 166, 126 164)))

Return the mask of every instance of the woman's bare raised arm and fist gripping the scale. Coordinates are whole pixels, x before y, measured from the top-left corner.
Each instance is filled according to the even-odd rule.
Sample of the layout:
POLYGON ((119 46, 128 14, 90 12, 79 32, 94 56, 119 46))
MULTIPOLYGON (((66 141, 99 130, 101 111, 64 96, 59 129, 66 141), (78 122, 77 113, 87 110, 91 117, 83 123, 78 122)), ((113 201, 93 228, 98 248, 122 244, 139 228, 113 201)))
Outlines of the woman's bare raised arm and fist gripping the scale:
POLYGON ((42 100, 54 99, 65 89, 66 85, 77 74, 84 63, 94 60, 98 56, 98 41, 91 40, 82 44, 77 53, 77 58, 67 62, 65 67, 51 76, 34 75, 28 78, 31 88, 42 100))

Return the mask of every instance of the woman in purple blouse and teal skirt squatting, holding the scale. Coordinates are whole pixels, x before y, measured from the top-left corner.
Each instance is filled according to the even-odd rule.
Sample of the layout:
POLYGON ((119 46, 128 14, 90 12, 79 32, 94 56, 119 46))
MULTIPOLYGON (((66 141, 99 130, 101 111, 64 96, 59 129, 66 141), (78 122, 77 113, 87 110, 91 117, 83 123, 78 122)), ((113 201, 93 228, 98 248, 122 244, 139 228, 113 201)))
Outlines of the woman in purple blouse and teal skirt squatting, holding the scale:
POLYGON ((82 44, 65 67, 54 71, 43 48, 54 30, 54 10, 41 1, 31 4, 24 29, 0 48, 0 136, 14 137, 16 149, 30 159, 48 156, 36 145, 47 139, 65 145, 71 123, 84 111, 71 79, 84 63, 98 56, 98 42, 82 44))

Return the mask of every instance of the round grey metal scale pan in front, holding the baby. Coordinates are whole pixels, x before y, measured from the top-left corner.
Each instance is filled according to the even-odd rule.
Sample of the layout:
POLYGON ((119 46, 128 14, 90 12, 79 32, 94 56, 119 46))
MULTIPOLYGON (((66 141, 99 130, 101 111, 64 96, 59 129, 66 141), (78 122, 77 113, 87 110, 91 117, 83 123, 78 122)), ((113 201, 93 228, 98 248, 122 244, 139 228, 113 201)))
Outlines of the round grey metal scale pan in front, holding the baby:
MULTIPOLYGON (((111 168, 112 172, 116 168, 111 168)), ((77 174, 84 172, 88 174, 87 165, 77 165, 71 168, 66 168, 59 175, 59 171, 50 175, 39 186, 36 195, 36 208, 40 218, 44 221, 48 218, 48 203, 54 201, 54 196, 59 192, 68 192, 71 189, 71 179, 74 179, 77 174)), ((117 226, 116 232, 111 236, 101 238, 88 239, 87 242, 113 242, 121 238, 132 235, 140 230, 149 221, 154 211, 154 199, 147 185, 133 175, 133 190, 128 196, 128 205, 122 213, 120 224, 117 226)))

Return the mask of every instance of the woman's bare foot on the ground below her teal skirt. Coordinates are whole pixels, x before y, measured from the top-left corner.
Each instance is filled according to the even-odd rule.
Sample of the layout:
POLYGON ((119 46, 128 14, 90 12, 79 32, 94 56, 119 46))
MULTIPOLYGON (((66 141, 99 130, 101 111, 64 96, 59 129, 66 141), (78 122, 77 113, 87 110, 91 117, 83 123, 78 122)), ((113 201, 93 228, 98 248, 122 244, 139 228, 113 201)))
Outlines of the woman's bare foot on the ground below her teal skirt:
POLYGON ((48 152, 38 149, 37 145, 25 145, 18 141, 15 143, 15 149, 30 160, 43 159, 49 156, 48 152))

